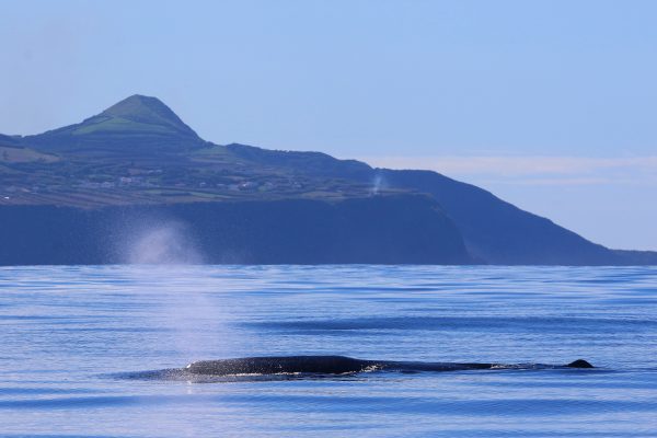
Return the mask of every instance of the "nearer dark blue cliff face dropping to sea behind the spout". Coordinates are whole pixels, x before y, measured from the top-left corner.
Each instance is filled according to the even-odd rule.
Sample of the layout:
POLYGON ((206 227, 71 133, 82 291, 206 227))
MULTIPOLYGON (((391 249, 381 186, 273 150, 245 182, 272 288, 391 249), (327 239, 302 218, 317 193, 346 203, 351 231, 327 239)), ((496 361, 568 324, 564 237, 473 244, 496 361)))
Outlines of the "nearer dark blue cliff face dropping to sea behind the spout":
POLYGON ((464 264, 426 196, 105 207, 0 207, 0 265, 464 264))

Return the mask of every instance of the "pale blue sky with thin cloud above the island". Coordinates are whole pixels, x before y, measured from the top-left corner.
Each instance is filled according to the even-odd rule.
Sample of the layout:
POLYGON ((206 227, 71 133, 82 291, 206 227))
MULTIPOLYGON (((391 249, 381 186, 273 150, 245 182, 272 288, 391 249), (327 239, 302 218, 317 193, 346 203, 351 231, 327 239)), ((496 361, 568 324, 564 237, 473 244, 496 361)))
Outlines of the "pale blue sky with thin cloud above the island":
POLYGON ((433 169, 657 250, 657 2, 0 2, 0 132, 155 95, 215 142, 433 169))

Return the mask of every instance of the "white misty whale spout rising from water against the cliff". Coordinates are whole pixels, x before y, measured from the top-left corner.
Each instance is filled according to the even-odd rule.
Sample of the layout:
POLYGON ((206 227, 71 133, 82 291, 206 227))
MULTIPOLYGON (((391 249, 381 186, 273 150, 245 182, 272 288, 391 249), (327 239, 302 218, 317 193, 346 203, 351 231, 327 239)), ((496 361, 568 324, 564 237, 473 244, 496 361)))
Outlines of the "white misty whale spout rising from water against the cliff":
MULTIPOLYGON (((194 237, 182 220, 155 215, 131 216, 123 222, 125 263, 150 293, 158 295, 152 324, 169 331, 170 347, 185 364, 208 356, 219 342, 221 309, 206 296, 208 267, 194 237), (215 343, 215 344, 214 344, 215 343)), ((173 364, 172 364, 173 365, 173 364)))

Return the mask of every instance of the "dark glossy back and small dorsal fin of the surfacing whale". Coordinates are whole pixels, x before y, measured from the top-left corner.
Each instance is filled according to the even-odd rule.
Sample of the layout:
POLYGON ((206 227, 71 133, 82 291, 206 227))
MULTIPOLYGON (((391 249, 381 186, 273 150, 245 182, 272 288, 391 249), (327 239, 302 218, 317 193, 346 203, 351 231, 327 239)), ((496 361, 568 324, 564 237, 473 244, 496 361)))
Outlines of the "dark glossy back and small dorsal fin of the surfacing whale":
POLYGON ((459 371, 481 369, 560 369, 593 368, 584 359, 567 365, 503 365, 503 364, 459 364, 362 360, 346 356, 265 356, 239 359, 200 360, 189 364, 184 372, 200 376, 235 374, 346 374, 365 371, 459 371))

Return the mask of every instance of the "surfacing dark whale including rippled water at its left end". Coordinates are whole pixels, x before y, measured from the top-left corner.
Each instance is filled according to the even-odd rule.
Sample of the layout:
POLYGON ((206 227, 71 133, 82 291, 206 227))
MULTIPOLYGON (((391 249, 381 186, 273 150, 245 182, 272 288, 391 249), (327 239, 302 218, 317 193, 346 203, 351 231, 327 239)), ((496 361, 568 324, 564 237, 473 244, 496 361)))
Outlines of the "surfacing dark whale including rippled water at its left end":
POLYGON ((470 370, 549 370, 595 368, 585 359, 565 365, 429 362, 356 359, 347 356, 256 356, 233 359, 199 360, 184 368, 141 371, 122 374, 131 379, 211 381, 217 378, 319 378, 355 376, 366 372, 443 372, 470 370))

